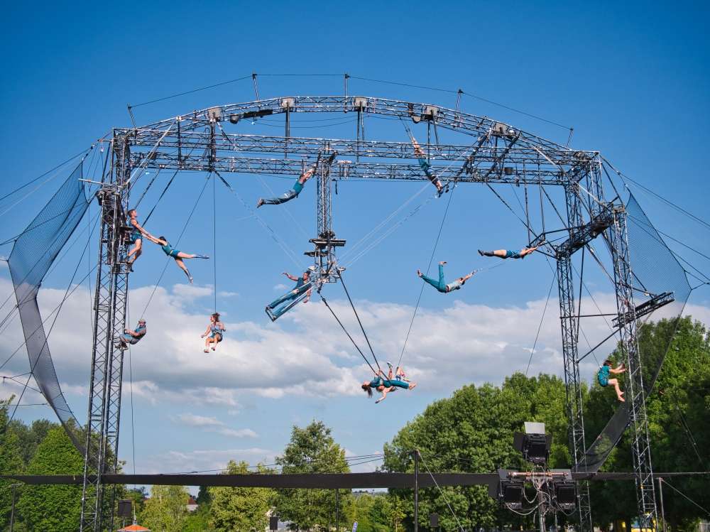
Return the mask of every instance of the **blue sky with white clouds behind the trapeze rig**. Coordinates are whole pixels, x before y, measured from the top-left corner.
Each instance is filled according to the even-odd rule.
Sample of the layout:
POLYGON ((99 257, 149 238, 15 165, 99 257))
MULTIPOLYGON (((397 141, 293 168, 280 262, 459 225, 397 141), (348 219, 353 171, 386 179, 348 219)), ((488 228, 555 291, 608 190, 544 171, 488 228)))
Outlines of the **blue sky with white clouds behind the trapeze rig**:
MULTIPOLYGON (((126 104, 251 72, 259 74, 261 97, 342 94, 342 77, 295 74, 349 72, 373 80, 461 88, 573 126, 572 146, 599 150, 617 168, 668 200, 701 217, 706 212, 709 176, 701 147, 710 114, 706 4, 207 2, 155 3, 148 8, 129 3, 120 9, 88 3, 59 9, 47 4, 39 14, 37 9, 13 4, 0 22, 4 50, 0 195, 82 151, 111 127, 129 126, 126 104)), ((448 92, 355 79, 350 80, 349 94, 444 107, 456 103, 448 92)), ((148 124, 192 109, 251 99, 253 86, 246 80, 135 107, 134 114, 138 124, 148 124)), ((481 99, 464 97, 461 108, 561 143, 569 134, 481 99)), ((332 125, 304 119, 294 124, 293 134, 352 136, 354 125, 351 117, 344 121, 348 120, 332 125)), ((265 120, 230 131, 278 134, 278 124, 265 120)), ((375 119, 366 122, 366 135, 406 139, 398 124, 375 119)), ((28 224, 65 175, 59 173, 18 205, 13 204, 19 197, 0 202, 0 208, 8 210, 2 240, 28 224)), ((165 178, 158 176, 157 190, 151 190, 140 207, 143 213, 154 205, 165 178)), ((266 186, 279 193, 290 186, 288 180, 268 176, 263 183, 249 175, 234 177, 233 182, 250 203, 266 194, 266 186)), ((203 183, 204 175, 180 175, 148 229, 168 237, 178 234, 203 183)), ((353 244, 420 186, 342 183, 334 201, 338 236, 353 244)), ((211 187, 182 238, 185 251, 212 255, 211 187)), ((260 210, 264 222, 299 254, 315 233, 313 188, 312 183, 307 186, 288 205, 288 212, 276 207, 260 210)), ((638 199, 659 229, 710 255, 707 229, 678 217, 641 191, 638 199)), ((446 200, 429 202, 346 272, 383 358, 397 357, 401 349, 403 327, 420 288, 415 270, 427 265, 446 200)), ((535 340, 552 281, 542 256, 481 273, 456 295, 425 291, 422 314, 415 322, 419 336, 412 358, 405 354, 404 359, 420 388, 373 406, 363 393, 351 394, 366 372, 322 305, 309 304, 277 325, 268 323, 263 306, 278 295, 281 288, 275 287, 285 281, 280 272, 295 273, 295 266, 224 190, 217 194, 216 207, 217 291, 219 310, 229 326, 228 340, 217 354, 203 356, 199 335, 212 308, 212 261, 190 265, 196 280, 192 288, 184 286, 182 273, 169 265, 146 311, 149 335, 132 352, 138 471, 210 469, 229 458, 268 462, 283 449, 290 425, 313 418, 331 426, 335 438, 352 453, 376 452, 435 398, 449 396, 467 382, 499 383, 511 371, 525 370, 526 349, 535 340)), ((92 211, 96 212, 95 205, 92 211)), ((77 249, 85 238, 84 234, 77 249)), ((491 264, 479 258, 477 248, 517 247, 526 238, 519 222, 488 190, 461 187, 452 200, 436 260, 449 261, 447 271, 457 275, 491 264)), ((95 251, 94 242, 91 246, 95 251)), ((9 246, 0 249, 3 254, 9 251, 9 246)), ((684 256, 701 270, 710 269, 706 259, 687 250, 684 256)), ((76 251, 67 254, 45 288, 63 290, 78 259, 76 251)), ((132 317, 145 308, 163 264, 163 254, 154 247, 140 259, 131 276, 132 317)), ((83 271, 89 267, 84 261, 83 271)), ((0 281, 8 278, 6 270, 0 273, 0 281)), ((601 273, 590 275, 590 288, 596 286, 604 301, 601 273)), ((6 294, 8 286, 2 282, 6 294)), ((89 371, 87 289, 77 291, 70 317, 60 320, 60 334, 50 340, 60 381, 80 420, 85 417, 82 389, 89 371)), ((327 297, 344 313, 340 288, 329 290, 327 297)), ((50 305, 59 293, 48 290, 42 297, 50 305)), ((699 316, 705 315, 707 300, 707 291, 693 293, 691 303, 699 316)), ((556 315, 552 301, 533 373, 561 372, 556 315)), ((603 327, 598 331, 595 327, 590 326, 590 335, 603 332, 603 327)), ((2 342, 1 354, 9 355, 21 342, 20 332, 15 326, 4 335, 8 341, 2 342)), ((15 365, 8 371, 26 371, 26 358, 21 357, 13 359, 15 365)), ((592 366, 587 369, 594 371, 592 366)), ((4 395, 13 391, 10 385, 3 388, 4 395)), ((28 420, 52 415, 46 407, 21 412, 28 420)), ((121 455, 131 464, 126 416, 121 455)))

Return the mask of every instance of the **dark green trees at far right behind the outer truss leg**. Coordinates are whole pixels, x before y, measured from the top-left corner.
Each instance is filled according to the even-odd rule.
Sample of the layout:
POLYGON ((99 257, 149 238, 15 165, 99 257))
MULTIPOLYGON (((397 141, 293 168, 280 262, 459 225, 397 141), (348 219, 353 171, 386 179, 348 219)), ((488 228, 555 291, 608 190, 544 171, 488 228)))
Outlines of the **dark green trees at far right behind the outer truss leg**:
MULTIPOLYGON (((708 332, 691 317, 647 323, 638 332, 639 349, 645 364, 645 383, 650 382, 657 362, 670 342, 656 386, 646 398, 651 457, 654 472, 707 471, 710 451, 710 341, 708 332), (674 332, 677 325, 677 332, 674 332), (671 341, 672 340, 672 341, 671 341)), ((626 376, 624 374, 623 376, 626 376)), ((622 389, 625 388, 622 382, 622 389)), ((613 393, 596 386, 586 405, 587 434, 598 434, 616 408, 613 393)), ((631 440, 627 430, 613 450, 605 471, 630 471, 631 440)), ((667 479, 673 487, 691 496, 700 506, 710 506, 704 477, 667 479)), ((665 516, 676 531, 691 530, 701 510, 683 496, 666 488, 663 492, 665 516)), ((623 520, 636 507, 635 487, 630 482, 591 483, 592 508, 604 508, 603 518, 623 520)))

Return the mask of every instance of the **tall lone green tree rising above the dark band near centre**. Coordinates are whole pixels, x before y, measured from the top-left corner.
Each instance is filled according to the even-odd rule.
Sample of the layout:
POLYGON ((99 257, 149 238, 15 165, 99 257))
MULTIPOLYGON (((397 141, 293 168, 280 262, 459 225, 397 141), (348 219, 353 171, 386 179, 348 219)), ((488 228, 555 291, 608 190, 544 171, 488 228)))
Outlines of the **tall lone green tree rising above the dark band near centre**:
MULTIPOLYGON (((345 450, 333 440, 321 421, 305 428, 293 427, 283 455, 276 458, 284 474, 347 473, 345 450)), ((281 519, 291 521, 292 530, 325 530, 334 522, 335 492, 332 489, 279 489, 276 510, 281 519)), ((340 502, 347 504, 347 496, 340 502)))

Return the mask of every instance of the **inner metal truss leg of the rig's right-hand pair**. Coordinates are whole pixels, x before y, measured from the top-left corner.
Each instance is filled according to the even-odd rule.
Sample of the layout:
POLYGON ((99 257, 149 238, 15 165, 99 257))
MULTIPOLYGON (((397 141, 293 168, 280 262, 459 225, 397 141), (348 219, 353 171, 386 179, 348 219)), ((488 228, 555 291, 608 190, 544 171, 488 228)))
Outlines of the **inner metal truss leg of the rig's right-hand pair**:
MULTIPOLYGON (((569 416, 569 448, 572 451, 574 467, 581 462, 586 452, 584 443, 584 415, 582 411, 581 379, 579 378, 579 358, 577 342, 579 340, 579 317, 574 305, 574 277, 572 272, 572 254, 577 251, 579 232, 582 231, 581 207, 577 195, 577 183, 567 183, 564 195, 567 200, 567 227, 569 240, 557 251, 557 288, 559 291, 559 322, 562 326, 562 363, 564 365, 564 389, 567 393, 567 416, 569 416)), ((577 484, 577 509, 582 532, 591 532, 591 504, 589 485, 577 484)))

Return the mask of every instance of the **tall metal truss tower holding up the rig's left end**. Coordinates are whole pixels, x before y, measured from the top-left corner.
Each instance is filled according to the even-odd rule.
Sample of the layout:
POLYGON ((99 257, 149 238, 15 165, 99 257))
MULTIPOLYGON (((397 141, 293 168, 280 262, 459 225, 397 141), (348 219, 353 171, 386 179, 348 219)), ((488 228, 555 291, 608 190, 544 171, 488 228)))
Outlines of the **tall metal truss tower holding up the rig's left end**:
POLYGON ((121 226, 125 220, 126 189, 130 175, 129 145, 113 144, 113 171, 99 190, 102 222, 97 285, 94 291, 94 339, 89 381, 86 455, 82 489, 81 531, 113 529, 115 488, 107 497, 100 474, 116 472, 123 352, 118 339, 126 327, 128 273, 124 256, 128 243, 121 226), (106 515, 104 515, 106 513, 106 515), (108 522, 104 519, 109 517, 108 522))

